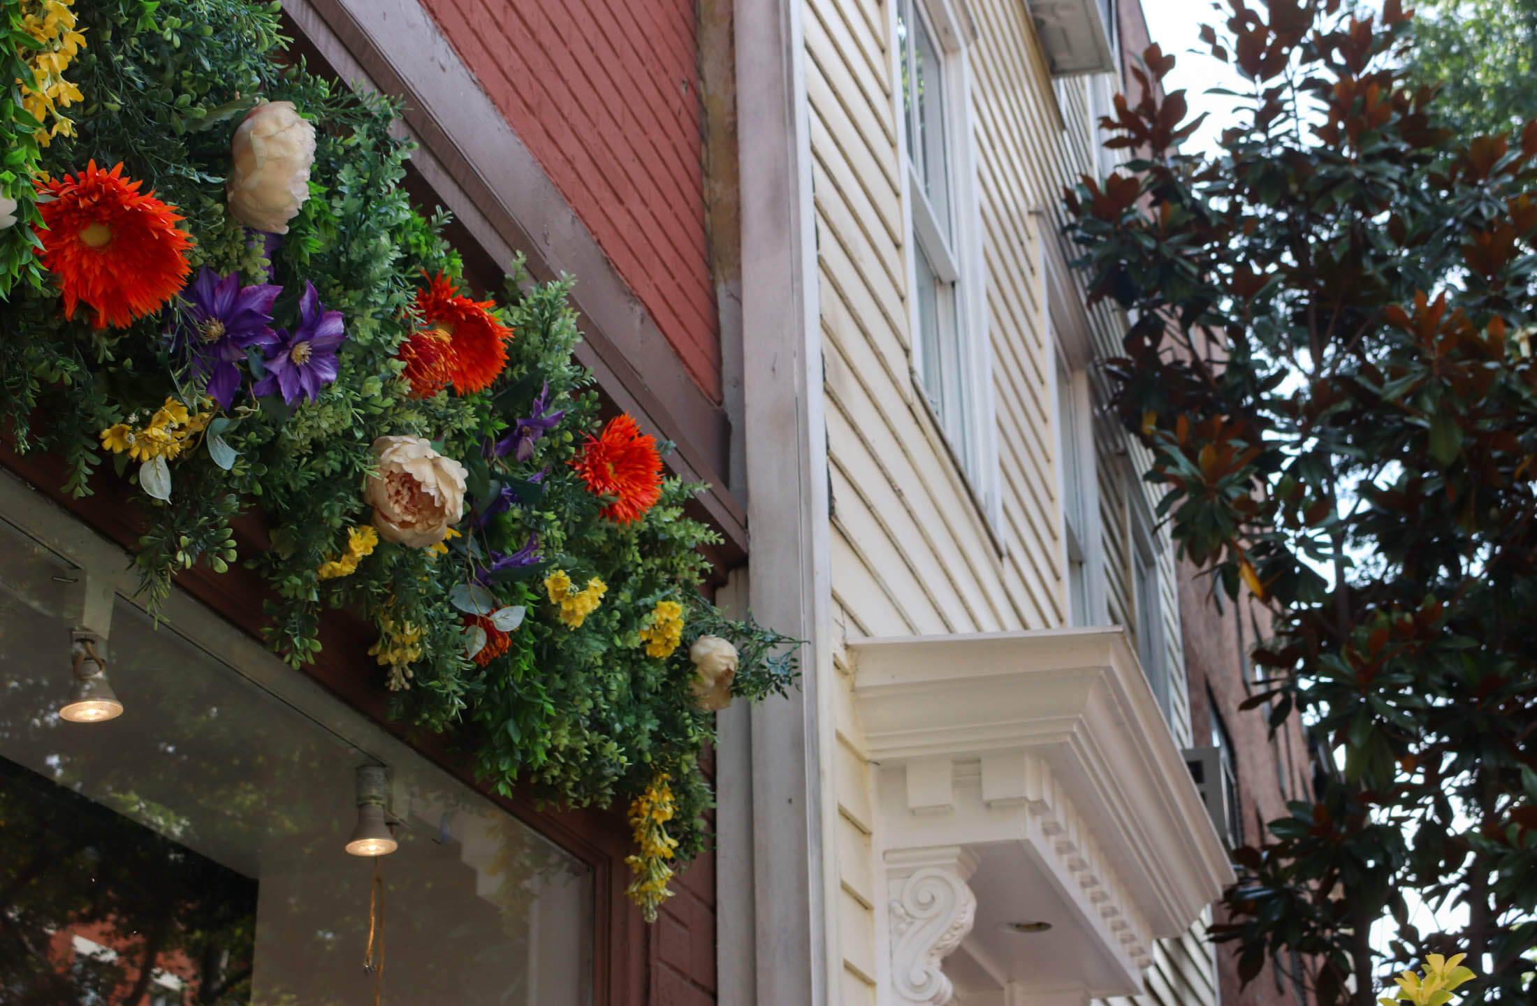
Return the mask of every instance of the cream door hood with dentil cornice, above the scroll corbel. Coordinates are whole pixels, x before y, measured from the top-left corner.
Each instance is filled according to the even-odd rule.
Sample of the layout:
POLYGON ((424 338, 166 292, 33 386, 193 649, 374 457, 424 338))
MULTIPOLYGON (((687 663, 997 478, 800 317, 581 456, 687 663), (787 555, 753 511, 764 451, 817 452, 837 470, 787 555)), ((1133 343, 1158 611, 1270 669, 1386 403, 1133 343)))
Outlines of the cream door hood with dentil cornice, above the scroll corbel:
POLYGON ((1183 932, 1234 877, 1125 633, 848 648, 878 765, 893 920, 904 911, 898 862, 962 849, 967 868, 951 872, 976 905, 944 971, 967 991, 1140 991, 1151 941, 1183 932), (1022 937, 1007 929, 1019 920, 1053 929, 1022 937))

